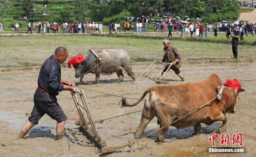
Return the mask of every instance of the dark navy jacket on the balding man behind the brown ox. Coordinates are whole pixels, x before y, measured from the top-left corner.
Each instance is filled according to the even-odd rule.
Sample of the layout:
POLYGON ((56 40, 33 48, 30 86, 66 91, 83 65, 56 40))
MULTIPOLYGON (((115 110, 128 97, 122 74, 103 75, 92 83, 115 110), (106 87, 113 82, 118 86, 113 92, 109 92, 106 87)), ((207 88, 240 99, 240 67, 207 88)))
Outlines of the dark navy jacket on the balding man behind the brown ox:
POLYGON ((34 100, 57 101, 58 95, 63 89, 61 83, 61 64, 52 55, 42 65, 38 76, 38 86, 45 91, 36 89, 34 100))

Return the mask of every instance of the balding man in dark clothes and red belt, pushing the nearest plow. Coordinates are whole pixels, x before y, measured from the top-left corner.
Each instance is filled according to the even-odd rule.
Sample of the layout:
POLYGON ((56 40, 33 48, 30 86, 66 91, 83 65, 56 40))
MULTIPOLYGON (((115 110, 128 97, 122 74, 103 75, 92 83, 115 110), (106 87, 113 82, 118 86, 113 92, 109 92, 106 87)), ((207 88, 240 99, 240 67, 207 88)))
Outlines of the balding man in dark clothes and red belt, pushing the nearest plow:
POLYGON ((68 50, 60 46, 55 50, 54 54, 43 63, 38 76, 38 87, 34 93, 34 108, 31 112, 31 116, 28 118, 29 121, 23 126, 19 136, 15 140, 24 138, 32 127, 38 124, 39 119, 41 119, 45 113, 57 121, 55 140, 62 138, 67 116, 58 104, 56 95, 62 90, 76 92, 76 88, 72 87, 74 86, 73 82, 61 80, 60 63, 64 63, 67 57, 68 50))

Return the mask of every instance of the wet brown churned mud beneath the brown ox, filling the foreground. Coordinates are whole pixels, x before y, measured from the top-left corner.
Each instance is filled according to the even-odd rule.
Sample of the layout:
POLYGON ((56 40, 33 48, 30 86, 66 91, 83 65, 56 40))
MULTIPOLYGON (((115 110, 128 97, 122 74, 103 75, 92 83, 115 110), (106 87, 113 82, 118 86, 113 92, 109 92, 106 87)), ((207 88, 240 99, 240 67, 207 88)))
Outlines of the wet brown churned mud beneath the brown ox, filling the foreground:
MULTIPOLYGON (((143 73, 146 67, 133 67, 138 73, 143 73)), ((238 79, 242 83, 245 92, 240 94, 239 101, 236 105, 236 113, 227 114, 228 123, 227 131, 233 133, 243 133, 243 144, 247 148, 246 156, 255 156, 256 132, 256 92, 255 77, 256 64, 234 64, 234 65, 199 65, 183 66, 182 74, 186 82, 194 82, 205 79, 212 73, 216 73, 225 82, 226 79, 238 79)), ((40 119, 39 125, 35 126, 28 134, 26 139, 21 139, 13 143, 20 132, 21 127, 26 123, 29 113, 33 108, 33 95, 37 87, 38 70, 20 71, 20 72, 2 72, 0 73, 1 81, 1 98, 0 98, 0 156, 99 156, 101 155, 94 144, 78 132, 78 127, 74 122, 78 119, 75 112, 74 101, 71 94, 67 91, 61 92, 57 97, 58 102, 67 114, 67 124, 65 136, 61 141, 55 141, 55 121, 45 115, 40 119)), ((157 72, 155 71, 156 75, 157 72)), ((127 76, 127 75, 125 75, 127 76)), ((169 85, 182 83, 174 72, 168 73, 169 85)), ((94 75, 87 75, 88 81, 94 81, 94 75)), ((131 79, 125 77, 121 83, 115 83, 117 76, 101 75, 99 85, 80 85, 101 92, 117 94, 139 98, 144 90, 153 86, 159 86, 141 76, 136 76, 137 81, 131 82, 131 79)), ((74 69, 63 69, 62 79, 78 82, 74 78, 74 69)), ((136 107, 121 108, 117 104, 121 100, 118 97, 110 97, 104 94, 98 94, 85 90, 88 102, 95 120, 105 119, 108 117, 120 115, 123 113, 141 110, 143 102, 136 107)), ((133 100, 128 100, 133 102, 133 100)), ((141 112, 122 116, 116 119, 106 120, 103 124, 96 124, 99 133, 104 138, 108 146, 117 146, 126 144, 129 138, 134 138, 136 127, 140 123, 141 112)), ((221 126, 221 122, 215 122, 211 126, 202 125, 201 134, 193 136, 194 127, 175 129, 170 127, 165 142, 158 144, 155 142, 156 133, 142 141, 134 144, 131 150, 122 149, 112 154, 110 157, 127 157, 127 156, 209 156, 221 154, 208 154, 206 147, 210 147, 208 141, 211 133, 221 126)), ((142 136, 155 131, 159 128, 154 118, 146 128, 142 136)), ((216 145, 219 140, 216 140, 216 145)), ((233 145, 230 144, 229 147, 233 145)), ((241 154, 238 154, 239 156, 241 154)), ((234 154, 228 154, 234 156, 234 154)))

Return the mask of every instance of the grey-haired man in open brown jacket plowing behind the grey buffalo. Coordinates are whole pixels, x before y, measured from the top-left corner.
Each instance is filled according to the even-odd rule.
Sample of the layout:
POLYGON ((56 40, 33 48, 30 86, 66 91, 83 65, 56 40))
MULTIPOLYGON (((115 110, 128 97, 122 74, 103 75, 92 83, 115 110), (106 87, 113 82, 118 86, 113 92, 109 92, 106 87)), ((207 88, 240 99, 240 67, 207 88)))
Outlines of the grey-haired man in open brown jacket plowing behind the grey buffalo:
MULTIPOLYGON (((171 69, 175 72, 176 75, 178 75, 182 81, 185 81, 181 71, 179 68, 181 68, 181 55, 179 54, 176 47, 171 46, 168 39, 163 40, 164 45, 164 56, 160 63, 173 63, 171 66, 171 69)), ((167 72, 169 66, 166 66, 165 69, 162 72, 162 75, 164 75, 167 72)), ((164 79, 164 78, 163 78, 164 79)))

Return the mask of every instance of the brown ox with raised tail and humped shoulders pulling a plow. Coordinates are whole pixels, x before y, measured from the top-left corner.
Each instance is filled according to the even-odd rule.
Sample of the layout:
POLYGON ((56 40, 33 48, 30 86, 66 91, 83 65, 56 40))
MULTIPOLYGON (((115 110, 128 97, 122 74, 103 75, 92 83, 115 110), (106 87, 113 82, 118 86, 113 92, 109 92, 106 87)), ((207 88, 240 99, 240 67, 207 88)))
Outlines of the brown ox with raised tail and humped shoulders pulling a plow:
MULTIPOLYGON (((222 81, 217 75, 212 74, 200 82, 149 88, 141 96, 141 99, 133 105, 128 105, 126 100, 123 99, 122 106, 133 107, 149 93, 144 103, 141 123, 136 129, 135 139, 141 136, 141 133, 154 117, 157 117, 157 123, 160 124, 161 128, 206 104, 216 97, 218 93, 217 86, 222 86, 222 81)), ((197 112, 173 123, 172 126, 177 128, 194 126, 195 134, 198 134, 201 123, 211 125, 215 121, 222 121, 222 126, 218 129, 218 132, 225 131, 227 122, 225 113, 235 112, 239 91, 244 90, 225 87, 222 92, 222 99, 225 103, 215 99, 197 112)), ((169 125, 159 130, 157 134, 159 141, 164 140, 168 127, 169 125)))

